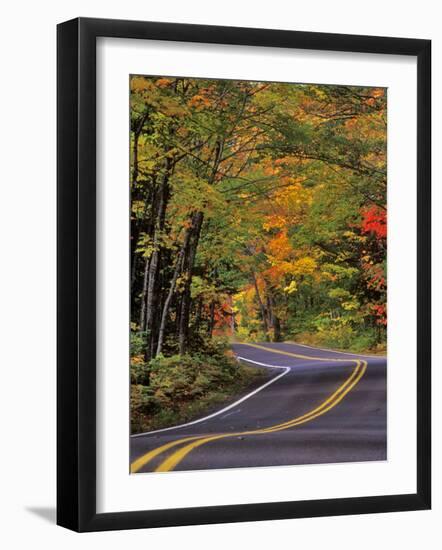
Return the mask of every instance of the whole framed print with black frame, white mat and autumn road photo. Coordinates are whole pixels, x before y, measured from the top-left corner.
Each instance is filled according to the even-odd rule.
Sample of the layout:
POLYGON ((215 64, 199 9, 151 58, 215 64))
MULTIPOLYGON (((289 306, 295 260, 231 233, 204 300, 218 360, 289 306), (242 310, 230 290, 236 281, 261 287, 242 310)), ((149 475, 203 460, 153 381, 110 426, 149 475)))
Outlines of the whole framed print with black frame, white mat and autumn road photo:
POLYGON ((59 525, 430 507, 430 99, 427 40, 58 26, 59 525))

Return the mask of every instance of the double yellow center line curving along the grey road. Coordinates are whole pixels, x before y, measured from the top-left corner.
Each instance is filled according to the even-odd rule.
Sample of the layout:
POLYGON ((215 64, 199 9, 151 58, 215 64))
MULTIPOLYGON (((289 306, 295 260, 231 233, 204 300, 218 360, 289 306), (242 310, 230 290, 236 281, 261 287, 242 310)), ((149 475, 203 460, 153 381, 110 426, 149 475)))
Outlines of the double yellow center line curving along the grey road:
POLYGON ((272 353, 277 353, 280 355, 289 355, 291 357, 296 357, 298 359, 307 359, 310 361, 337 362, 337 363, 354 363, 355 368, 353 369, 350 376, 344 381, 344 383, 341 386, 339 386, 339 388, 332 395, 330 395, 318 407, 303 414, 302 416, 297 416, 295 418, 292 418, 291 420, 288 420, 281 424, 275 424, 274 426, 268 426, 267 428, 260 428, 256 430, 248 430, 248 431, 242 431, 242 432, 221 433, 221 434, 216 434, 211 436, 198 435, 198 436, 191 436, 191 437, 184 437, 181 439, 177 439, 175 441, 171 441, 170 443, 166 443, 165 445, 161 445, 160 447, 157 447, 156 449, 153 449, 152 451, 137 458, 131 464, 131 469, 130 469, 131 473, 138 472, 141 468, 143 468, 155 457, 157 457, 162 453, 165 453, 169 449, 173 449, 174 447, 180 446, 178 450, 169 454, 168 457, 159 464, 159 466, 155 469, 156 472, 168 472, 170 470, 173 470, 191 451, 211 441, 217 441, 219 439, 225 439, 227 437, 260 435, 260 434, 279 432, 282 430, 293 428, 294 426, 299 426, 300 424, 305 424, 306 422, 310 422, 311 420, 314 420, 315 418, 322 416, 323 414, 331 410, 333 407, 335 407, 338 403, 340 403, 342 399, 344 399, 344 397, 347 395, 347 393, 349 393, 356 386, 356 384, 364 376, 364 373, 367 370, 367 361, 364 361, 362 359, 341 359, 341 358, 337 359, 335 357, 333 358, 311 357, 311 356, 300 355, 300 354, 292 353, 288 351, 276 350, 274 348, 268 348, 258 344, 247 344, 247 345, 258 349, 262 349, 265 351, 269 351, 272 353))

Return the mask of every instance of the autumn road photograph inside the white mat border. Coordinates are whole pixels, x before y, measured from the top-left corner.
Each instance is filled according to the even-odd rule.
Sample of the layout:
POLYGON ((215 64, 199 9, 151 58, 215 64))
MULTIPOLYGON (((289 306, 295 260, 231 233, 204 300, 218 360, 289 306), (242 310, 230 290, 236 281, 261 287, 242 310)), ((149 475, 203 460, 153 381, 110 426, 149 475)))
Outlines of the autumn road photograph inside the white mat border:
POLYGON ((387 89, 129 85, 130 472, 387 460, 387 89))

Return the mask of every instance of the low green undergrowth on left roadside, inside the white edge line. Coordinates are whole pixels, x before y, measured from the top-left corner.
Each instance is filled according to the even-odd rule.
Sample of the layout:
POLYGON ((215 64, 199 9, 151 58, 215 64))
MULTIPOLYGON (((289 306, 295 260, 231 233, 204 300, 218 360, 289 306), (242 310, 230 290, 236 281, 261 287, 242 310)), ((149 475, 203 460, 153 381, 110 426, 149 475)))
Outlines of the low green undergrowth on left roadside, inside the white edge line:
POLYGON ((189 422, 257 385, 265 369, 238 363, 225 342, 144 363, 131 360, 131 432, 189 422))

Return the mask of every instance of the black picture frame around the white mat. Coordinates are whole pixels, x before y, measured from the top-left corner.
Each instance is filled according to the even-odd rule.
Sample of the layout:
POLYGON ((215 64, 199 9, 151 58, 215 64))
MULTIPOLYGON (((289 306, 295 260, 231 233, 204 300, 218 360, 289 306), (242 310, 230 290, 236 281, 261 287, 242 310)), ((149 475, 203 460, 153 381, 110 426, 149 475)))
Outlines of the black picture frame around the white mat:
POLYGON ((57 523, 75 531, 430 508, 431 42, 79 18, 58 25, 57 523), (117 37, 417 58, 417 492, 361 498, 96 512, 96 39, 117 37))

